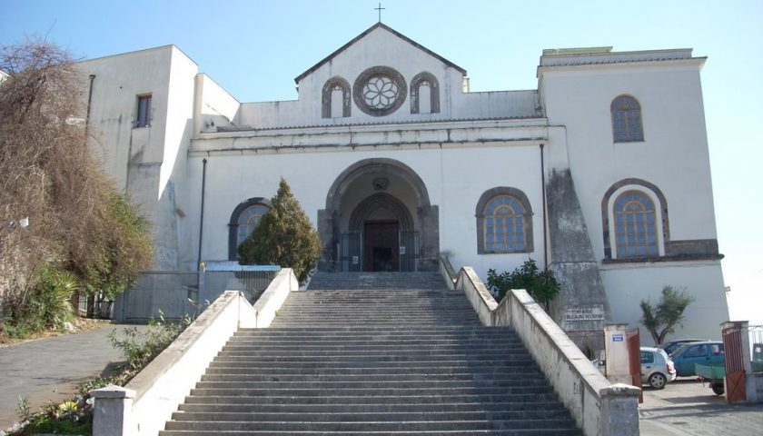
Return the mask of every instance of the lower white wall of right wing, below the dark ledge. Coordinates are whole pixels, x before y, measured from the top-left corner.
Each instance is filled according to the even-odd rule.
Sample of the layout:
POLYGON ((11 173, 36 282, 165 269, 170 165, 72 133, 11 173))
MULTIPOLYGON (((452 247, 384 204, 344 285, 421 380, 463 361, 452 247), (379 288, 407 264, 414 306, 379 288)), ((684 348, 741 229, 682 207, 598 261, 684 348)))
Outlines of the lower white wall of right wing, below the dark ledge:
POLYGON ((642 345, 651 345, 654 341, 639 322, 639 302, 649 300, 655 305, 663 286, 668 284, 685 288, 694 298, 685 312, 683 326, 668 338, 720 340, 720 323, 728 321, 728 309, 718 261, 605 266, 601 278, 607 290, 612 321, 639 327, 642 345))

